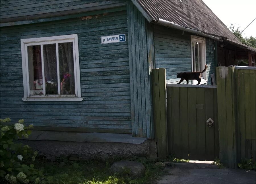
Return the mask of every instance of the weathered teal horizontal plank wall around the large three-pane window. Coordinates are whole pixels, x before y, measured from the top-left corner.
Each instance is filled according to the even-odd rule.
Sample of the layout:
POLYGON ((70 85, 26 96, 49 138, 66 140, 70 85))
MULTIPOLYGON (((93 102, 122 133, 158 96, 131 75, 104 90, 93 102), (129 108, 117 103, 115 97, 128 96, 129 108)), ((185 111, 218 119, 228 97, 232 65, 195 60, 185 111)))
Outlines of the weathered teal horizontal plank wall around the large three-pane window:
POLYGON ((48 130, 130 134, 128 41, 125 6, 90 17, 1 28, 1 118, 24 119, 48 130), (121 33, 126 34, 126 42, 101 44, 101 36, 121 33), (78 34, 84 100, 22 101, 20 39, 68 34, 78 34))

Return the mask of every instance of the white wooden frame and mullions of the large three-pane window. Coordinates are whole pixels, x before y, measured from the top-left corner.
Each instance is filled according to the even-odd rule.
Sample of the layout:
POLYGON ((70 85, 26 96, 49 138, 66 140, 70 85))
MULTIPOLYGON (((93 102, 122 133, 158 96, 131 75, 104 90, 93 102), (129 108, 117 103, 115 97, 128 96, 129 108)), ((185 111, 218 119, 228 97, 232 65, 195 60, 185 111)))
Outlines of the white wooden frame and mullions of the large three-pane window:
MULTIPOLYGON (((83 98, 81 97, 79 49, 78 49, 77 34, 21 39, 20 43, 21 43, 22 73, 23 73, 23 86, 24 86, 24 98, 22 98, 23 101, 82 101, 83 100, 83 98), (56 44, 56 53, 58 53, 58 43, 66 43, 66 42, 73 42, 75 95, 61 95, 61 94, 30 95, 29 73, 28 73, 28 46, 41 45, 42 72, 44 76, 44 56, 43 56, 42 45, 56 44)), ((57 69, 59 68, 58 64, 59 64, 59 55, 57 54, 57 69)), ((60 91, 59 83, 60 83, 60 79, 58 75, 58 91, 60 91)), ((45 82, 43 83, 43 85, 45 90, 45 82)))

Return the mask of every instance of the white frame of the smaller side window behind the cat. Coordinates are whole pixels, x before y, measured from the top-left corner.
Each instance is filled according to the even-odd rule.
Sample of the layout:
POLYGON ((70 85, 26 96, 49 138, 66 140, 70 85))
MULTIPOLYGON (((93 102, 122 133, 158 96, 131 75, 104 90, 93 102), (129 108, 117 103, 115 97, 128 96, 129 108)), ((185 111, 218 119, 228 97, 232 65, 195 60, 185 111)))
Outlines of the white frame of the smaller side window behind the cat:
MULTIPOLYGON (((201 53, 202 54, 202 63, 201 63, 201 68, 204 68, 205 64, 206 64, 206 45, 205 45, 205 38, 204 37, 199 37, 196 35, 191 35, 191 71, 193 72, 193 46, 192 43, 193 42, 199 42, 202 43, 202 48, 201 48, 201 53)), ((206 71, 204 73, 201 74, 202 76, 202 80, 200 84, 207 84, 206 81, 206 71)), ((197 80, 192 80, 192 84, 197 84, 198 81, 197 80)))

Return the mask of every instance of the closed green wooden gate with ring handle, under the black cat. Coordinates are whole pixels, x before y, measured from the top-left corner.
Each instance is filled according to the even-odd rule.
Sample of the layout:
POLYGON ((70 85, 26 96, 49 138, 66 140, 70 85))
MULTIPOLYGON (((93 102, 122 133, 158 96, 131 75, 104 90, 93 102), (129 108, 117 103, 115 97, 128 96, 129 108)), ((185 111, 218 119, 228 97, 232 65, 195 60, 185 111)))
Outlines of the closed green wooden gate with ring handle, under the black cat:
POLYGON ((166 90, 169 155, 190 160, 219 157, 216 85, 166 84, 166 90))

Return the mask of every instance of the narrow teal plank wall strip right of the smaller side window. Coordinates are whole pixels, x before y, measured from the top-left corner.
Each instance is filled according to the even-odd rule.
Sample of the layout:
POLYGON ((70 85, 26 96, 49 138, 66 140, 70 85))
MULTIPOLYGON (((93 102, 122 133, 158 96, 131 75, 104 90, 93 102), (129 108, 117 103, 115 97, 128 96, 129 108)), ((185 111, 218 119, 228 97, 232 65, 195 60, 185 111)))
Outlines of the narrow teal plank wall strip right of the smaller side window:
MULTIPOLYGON (((212 84, 211 74, 215 74, 215 60, 214 60, 214 40, 210 38, 205 38, 206 45, 206 80, 207 84, 212 84)), ((217 48, 216 48, 217 49, 217 48)))

